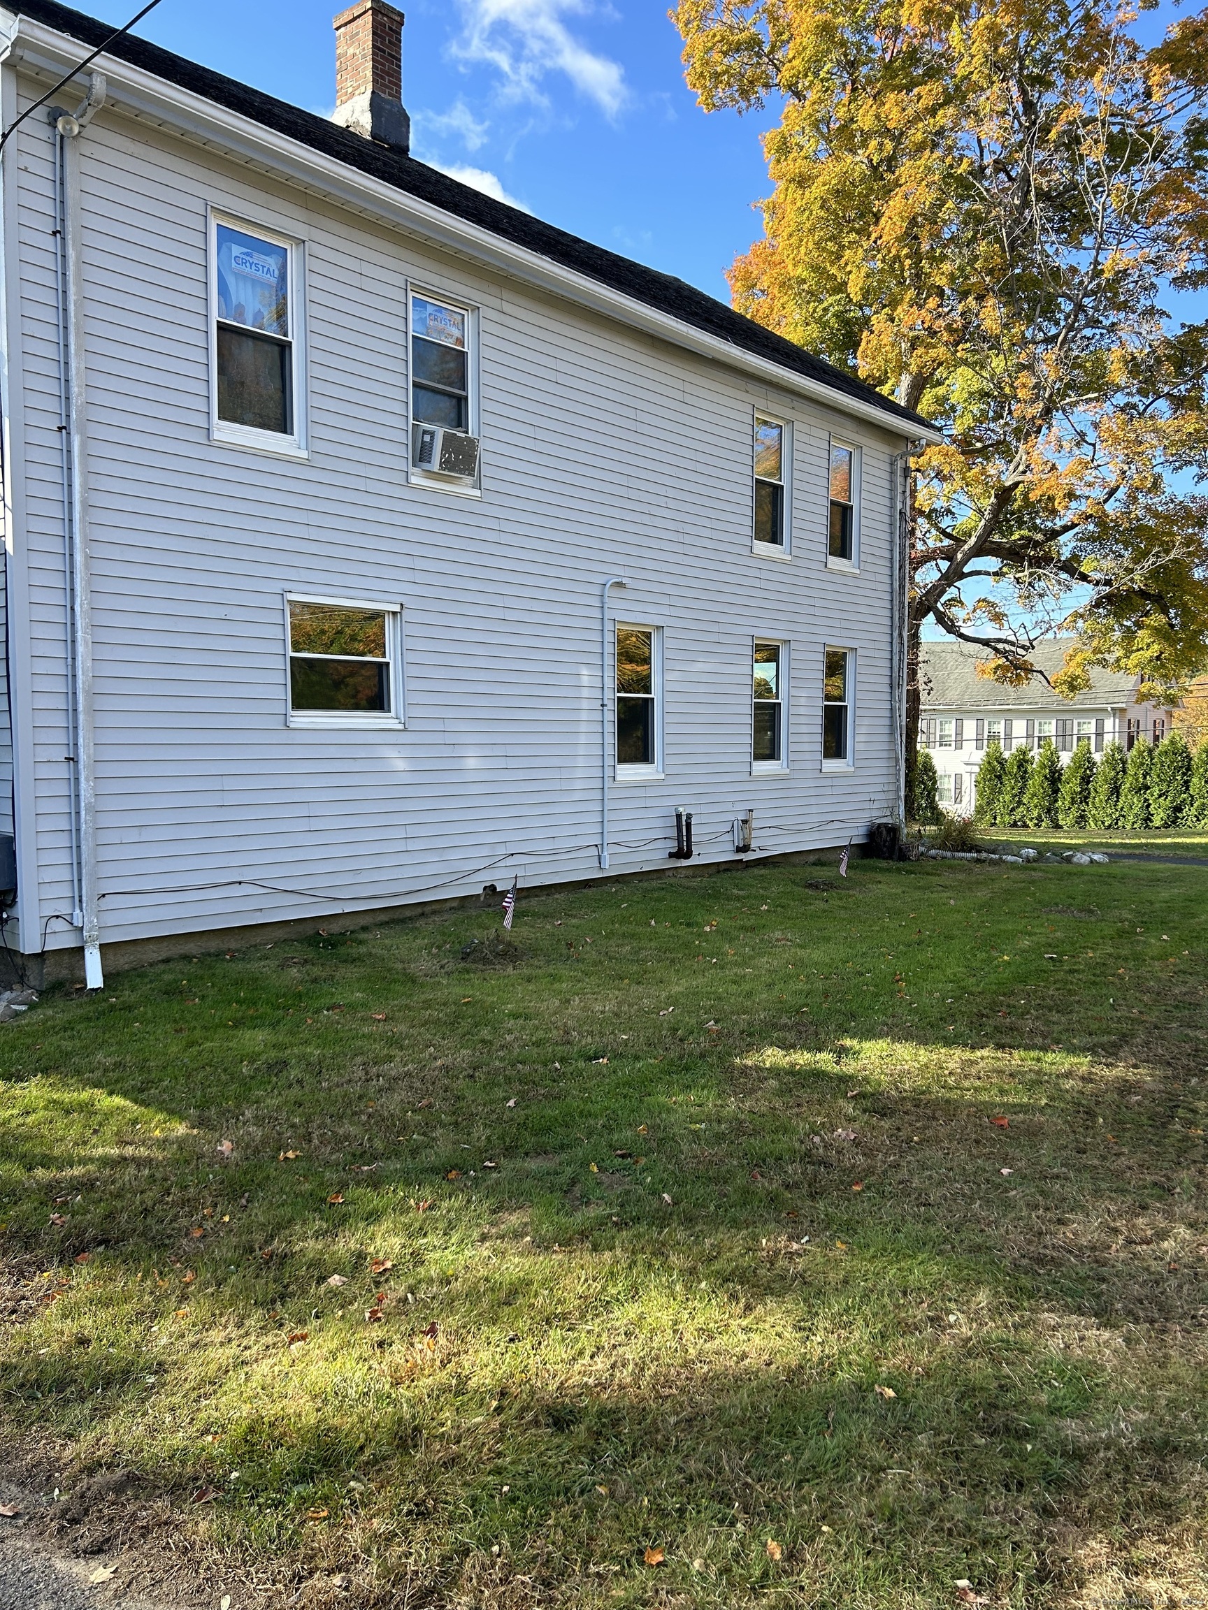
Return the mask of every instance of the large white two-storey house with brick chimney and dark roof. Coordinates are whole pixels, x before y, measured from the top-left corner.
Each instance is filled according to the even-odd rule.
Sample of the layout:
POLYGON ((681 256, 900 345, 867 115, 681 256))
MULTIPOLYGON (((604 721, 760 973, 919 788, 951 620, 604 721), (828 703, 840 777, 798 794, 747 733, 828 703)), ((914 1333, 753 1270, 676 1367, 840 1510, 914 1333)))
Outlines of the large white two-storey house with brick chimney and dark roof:
POLYGON ((324 119, 0 6, 8 942, 60 974, 899 815, 937 433, 414 161, 401 27, 337 18, 324 119))

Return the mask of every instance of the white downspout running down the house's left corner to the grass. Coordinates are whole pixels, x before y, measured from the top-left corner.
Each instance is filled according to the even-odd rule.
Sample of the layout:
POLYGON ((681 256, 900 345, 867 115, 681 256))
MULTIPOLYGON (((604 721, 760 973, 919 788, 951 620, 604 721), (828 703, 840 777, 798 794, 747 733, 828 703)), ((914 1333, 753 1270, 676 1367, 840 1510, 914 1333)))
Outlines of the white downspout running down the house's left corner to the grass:
POLYGON ((55 127, 55 237, 60 327, 60 435, 63 436, 63 543, 68 591, 68 718, 72 755, 72 921, 84 942, 87 989, 105 984, 97 898, 97 786, 92 729, 92 589, 89 565, 87 396, 84 377, 84 285, 81 266, 81 130, 105 103, 105 77, 93 72, 76 114, 52 109, 55 127))

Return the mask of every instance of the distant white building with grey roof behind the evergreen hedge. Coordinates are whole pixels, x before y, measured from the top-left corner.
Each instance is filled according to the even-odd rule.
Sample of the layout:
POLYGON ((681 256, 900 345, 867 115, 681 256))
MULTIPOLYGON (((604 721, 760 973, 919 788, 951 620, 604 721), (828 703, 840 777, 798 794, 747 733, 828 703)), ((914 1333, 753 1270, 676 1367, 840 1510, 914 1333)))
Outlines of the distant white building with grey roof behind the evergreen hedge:
MULTIPOLYGON (((1073 639, 1039 642, 1029 658, 1052 678, 1065 663, 1073 639)), ((939 803, 955 815, 976 805, 978 766, 987 744, 1005 752, 1020 745, 1036 752, 1049 737, 1063 762, 1082 739, 1094 753, 1118 742, 1160 744, 1171 731, 1168 705, 1137 700, 1139 676, 1092 670, 1090 687, 1060 699, 1039 676, 1026 687, 1002 687, 978 676, 986 654, 968 642, 925 642, 920 660, 920 749, 933 750, 939 774, 939 803)))

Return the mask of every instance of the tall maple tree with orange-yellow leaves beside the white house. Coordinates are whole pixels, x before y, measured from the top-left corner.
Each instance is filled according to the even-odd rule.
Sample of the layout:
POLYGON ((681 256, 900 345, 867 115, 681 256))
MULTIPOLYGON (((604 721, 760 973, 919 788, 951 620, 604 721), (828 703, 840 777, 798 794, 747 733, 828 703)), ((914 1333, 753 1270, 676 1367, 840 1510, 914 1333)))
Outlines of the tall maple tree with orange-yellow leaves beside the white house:
POLYGON ((907 774, 925 623, 1023 684, 1208 668, 1208 13, 1145 48, 1084 0, 681 0, 705 111, 778 103, 734 306, 947 431, 912 464, 907 774), (1024 625, 1021 625, 1021 621, 1024 625))

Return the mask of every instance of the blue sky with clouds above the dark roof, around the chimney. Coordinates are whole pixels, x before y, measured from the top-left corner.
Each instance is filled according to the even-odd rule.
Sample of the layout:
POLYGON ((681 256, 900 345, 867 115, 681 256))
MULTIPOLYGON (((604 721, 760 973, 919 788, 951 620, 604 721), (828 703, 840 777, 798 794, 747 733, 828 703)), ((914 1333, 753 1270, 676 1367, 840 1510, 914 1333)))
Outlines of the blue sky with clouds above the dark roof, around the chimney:
MULTIPOLYGON (((139 10, 137 0, 81 8, 114 26, 139 10)), ((330 113, 337 10, 335 0, 161 0, 135 32, 330 113)), ((723 270, 760 232, 759 132, 773 113, 705 118, 659 0, 401 0, 401 10, 416 156, 728 299, 723 270)))

